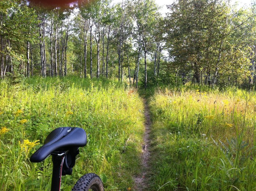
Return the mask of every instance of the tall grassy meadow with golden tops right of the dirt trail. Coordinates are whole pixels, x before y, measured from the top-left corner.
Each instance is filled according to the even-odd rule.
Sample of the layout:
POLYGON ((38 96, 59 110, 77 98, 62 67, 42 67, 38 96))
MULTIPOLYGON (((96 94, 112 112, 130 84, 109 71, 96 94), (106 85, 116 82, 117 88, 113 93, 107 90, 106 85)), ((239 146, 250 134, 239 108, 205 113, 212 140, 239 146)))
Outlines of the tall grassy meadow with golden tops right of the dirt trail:
POLYGON ((156 92, 150 190, 254 190, 255 103, 234 89, 156 92))

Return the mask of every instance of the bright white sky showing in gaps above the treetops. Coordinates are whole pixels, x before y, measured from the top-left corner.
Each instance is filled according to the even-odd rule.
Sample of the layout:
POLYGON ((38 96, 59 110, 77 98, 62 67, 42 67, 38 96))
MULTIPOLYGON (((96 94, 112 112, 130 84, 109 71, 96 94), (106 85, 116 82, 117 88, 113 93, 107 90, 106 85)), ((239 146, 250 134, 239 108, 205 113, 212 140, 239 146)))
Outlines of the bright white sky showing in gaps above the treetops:
MULTIPOLYGON (((162 7, 161 13, 164 16, 168 9, 166 8, 166 4, 172 4, 175 0, 156 0, 156 4, 162 7)), ((113 0, 112 3, 122 2, 122 0, 113 0)), ((237 7, 241 8, 243 6, 249 6, 251 4, 251 0, 231 0, 231 4, 235 4, 237 2, 237 7)))

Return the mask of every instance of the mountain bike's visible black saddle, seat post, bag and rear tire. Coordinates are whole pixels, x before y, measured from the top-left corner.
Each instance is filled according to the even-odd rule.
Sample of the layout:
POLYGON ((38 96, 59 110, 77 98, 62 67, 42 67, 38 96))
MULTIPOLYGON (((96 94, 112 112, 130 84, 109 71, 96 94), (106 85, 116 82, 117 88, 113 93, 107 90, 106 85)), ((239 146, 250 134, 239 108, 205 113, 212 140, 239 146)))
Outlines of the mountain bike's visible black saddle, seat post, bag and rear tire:
MULTIPOLYGON (((79 147, 87 143, 86 132, 78 127, 59 127, 54 129, 44 140, 44 145, 31 155, 30 161, 40 163, 52 155, 51 191, 60 191, 61 176, 71 175, 72 168, 79 154, 79 147)), ((72 188, 78 190, 104 191, 100 177, 94 173, 82 176, 72 188)))

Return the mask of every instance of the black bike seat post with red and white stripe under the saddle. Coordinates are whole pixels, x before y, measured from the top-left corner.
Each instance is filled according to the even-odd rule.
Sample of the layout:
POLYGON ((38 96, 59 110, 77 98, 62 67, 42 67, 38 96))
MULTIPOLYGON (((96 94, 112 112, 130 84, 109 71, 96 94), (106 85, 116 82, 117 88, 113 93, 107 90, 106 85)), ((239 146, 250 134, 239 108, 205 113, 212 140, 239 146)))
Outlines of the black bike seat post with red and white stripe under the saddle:
POLYGON ((64 155, 52 154, 52 185, 51 191, 60 191, 60 183, 61 183, 61 173, 62 173, 62 165, 65 159, 64 155))

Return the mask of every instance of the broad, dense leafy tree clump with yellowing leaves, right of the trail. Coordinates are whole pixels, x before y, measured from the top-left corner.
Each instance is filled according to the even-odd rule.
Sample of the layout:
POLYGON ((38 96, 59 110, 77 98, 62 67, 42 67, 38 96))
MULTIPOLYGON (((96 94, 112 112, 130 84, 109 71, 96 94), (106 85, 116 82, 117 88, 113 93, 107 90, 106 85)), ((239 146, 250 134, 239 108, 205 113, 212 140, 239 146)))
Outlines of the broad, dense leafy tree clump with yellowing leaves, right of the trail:
POLYGON ((224 1, 210 0, 178 1, 168 8, 165 41, 174 71, 198 84, 237 85, 248 79, 252 10, 236 11, 224 1))

